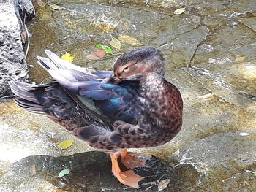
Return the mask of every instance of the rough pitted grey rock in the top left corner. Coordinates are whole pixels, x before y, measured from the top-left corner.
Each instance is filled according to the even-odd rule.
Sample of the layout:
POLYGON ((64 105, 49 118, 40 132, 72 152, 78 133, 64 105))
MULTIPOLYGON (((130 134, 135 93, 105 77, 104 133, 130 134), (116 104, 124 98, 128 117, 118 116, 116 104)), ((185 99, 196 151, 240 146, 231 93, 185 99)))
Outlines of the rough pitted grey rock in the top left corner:
POLYGON ((29 0, 0 2, 0 97, 11 93, 8 81, 28 81, 22 45, 26 38, 23 20, 33 14, 34 7, 29 0))

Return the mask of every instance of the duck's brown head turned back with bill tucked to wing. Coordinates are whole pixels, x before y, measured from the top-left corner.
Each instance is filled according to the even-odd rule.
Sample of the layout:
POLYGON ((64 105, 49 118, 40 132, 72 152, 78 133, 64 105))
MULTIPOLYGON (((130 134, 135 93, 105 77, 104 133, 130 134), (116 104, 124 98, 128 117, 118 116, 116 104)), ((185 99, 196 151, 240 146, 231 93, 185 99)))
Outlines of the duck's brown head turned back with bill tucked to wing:
POLYGON ((118 84, 122 80, 144 80, 148 74, 165 74, 164 57, 154 47, 140 47, 121 55, 114 64, 113 76, 108 82, 118 84))

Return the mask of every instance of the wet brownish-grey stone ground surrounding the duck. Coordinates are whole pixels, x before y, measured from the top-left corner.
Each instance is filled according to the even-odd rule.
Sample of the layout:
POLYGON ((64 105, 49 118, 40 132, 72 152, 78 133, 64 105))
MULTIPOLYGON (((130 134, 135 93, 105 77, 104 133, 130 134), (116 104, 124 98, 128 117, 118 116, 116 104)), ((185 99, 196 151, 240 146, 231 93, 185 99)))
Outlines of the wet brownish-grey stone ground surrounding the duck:
MULTIPOLYGON (((256 1, 51 3, 64 8, 37 7, 29 26, 27 62, 34 82, 49 80, 35 62, 45 48, 58 55, 67 51, 75 64, 99 70, 111 69, 118 54, 99 61, 86 55, 96 44, 110 45, 112 37, 125 34, 159 47, 166 78, 184 99, 184 125, 171 142, 132 151, 160 159, 157 165, 170 179, 163 191, 255 191, 256 1), (180 7, 186 11, 173 15, 180 7)), ((113 51, 134 47, 122 43, 113 51)), ((78 139, 59 149, 72 136, 12 100, 1 101, 0 128, 0 191, 158 191, 159 183, 140 190, 121 185, 108 155, 89 152, 78 139), (57 177, 61 169, 71 172, 57 177)))

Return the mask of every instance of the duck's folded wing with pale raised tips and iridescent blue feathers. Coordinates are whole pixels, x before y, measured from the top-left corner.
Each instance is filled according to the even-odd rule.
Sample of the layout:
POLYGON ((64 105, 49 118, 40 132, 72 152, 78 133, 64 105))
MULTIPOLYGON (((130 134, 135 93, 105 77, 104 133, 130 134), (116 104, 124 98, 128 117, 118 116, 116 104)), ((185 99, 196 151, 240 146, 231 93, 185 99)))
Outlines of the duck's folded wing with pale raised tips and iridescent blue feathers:
POLYGON ((45 53, 50 59, 37 57, 38 63, 91 115, 91 118, 109 124, 115 120, 131 121, 135 117, 137 111, 128 107, 135 98, 132 84, 123 86, 104 83, 102 80, 112 72, 86 72, 49 50, 45 53))

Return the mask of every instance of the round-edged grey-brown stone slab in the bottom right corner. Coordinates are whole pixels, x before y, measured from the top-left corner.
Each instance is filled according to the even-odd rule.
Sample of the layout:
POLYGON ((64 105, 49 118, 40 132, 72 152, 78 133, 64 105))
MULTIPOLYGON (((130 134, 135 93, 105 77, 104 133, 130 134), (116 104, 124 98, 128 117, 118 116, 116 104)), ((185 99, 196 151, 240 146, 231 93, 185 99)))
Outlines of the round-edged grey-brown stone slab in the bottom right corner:
POLYGON ((252 191, 256 189, 255 152, 254 131, 215 134, 189 147, 181 164, 195 166, 200 173, 197 191, 252 191))

